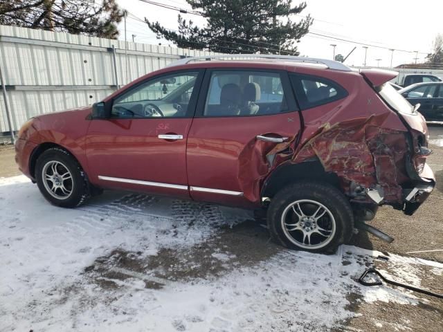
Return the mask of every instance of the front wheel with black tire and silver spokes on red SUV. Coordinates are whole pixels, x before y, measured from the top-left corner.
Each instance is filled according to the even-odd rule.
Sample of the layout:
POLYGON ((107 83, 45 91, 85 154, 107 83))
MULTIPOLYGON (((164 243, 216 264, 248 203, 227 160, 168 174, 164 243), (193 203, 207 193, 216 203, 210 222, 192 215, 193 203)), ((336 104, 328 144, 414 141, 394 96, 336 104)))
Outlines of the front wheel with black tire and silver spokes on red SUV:
MULTIPOLYGON (((51 174, 48 176, 51 176, 51 174)), ((80 206, 91 196, 87 176, 84 174, 78 161, 75 160, 68 151, 58 147, 47 149, 37 158, 35 180, 44 198, 53 205, 62 208, 75 208, 80 206), (71 176, 71 178, 66 180, 66 188, 64 187, 64 191, 69 192, 69 194, 66 194, 61 188, 56 189, 55 192, 52 191, 53 194, 51 194, 51 188, 49 186, 53 186, 55 182, 53 180, 49 180, 49 182, 46 181, 44 174, 48 174, 48 172, 51 173, 53 165, 55 165, 55 169, 58 169, 57 172, 60 172, 60 169, 66 172, 69 171, 68 176, 71 176), (57 196, 60 197, 57 198, 57 196)), ((65 183, 65 181, 62 182, 65 183)))

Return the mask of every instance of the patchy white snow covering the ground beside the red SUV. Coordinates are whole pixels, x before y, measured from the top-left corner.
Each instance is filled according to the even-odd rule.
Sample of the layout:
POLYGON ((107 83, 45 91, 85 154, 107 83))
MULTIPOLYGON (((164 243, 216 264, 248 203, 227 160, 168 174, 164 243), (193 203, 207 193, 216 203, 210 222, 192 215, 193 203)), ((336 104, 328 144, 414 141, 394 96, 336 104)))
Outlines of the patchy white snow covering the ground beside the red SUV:
MULTIPOLYGON (((323 331, 356 315, 350 297, 417 304, 356 282, 379 252, 242 247, 229 234, 251 219, 242 210, 124 192, 65 210, 17 176, 0 178, 0 212, 0 331, 323 331)), ((389 264, 386 275, 420 285, 426 261, 389 264)))

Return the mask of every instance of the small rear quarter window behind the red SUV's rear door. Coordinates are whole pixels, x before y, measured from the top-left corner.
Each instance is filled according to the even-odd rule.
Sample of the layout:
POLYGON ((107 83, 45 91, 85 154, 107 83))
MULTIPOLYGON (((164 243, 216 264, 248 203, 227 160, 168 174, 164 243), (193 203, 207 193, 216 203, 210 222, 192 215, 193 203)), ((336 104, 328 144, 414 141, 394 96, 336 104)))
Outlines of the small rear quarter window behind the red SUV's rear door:
POLYGON ((291 82, 300 109, 310 109, 347 96, 347 91, 342 86, 323 77, 293 74, 291 82))

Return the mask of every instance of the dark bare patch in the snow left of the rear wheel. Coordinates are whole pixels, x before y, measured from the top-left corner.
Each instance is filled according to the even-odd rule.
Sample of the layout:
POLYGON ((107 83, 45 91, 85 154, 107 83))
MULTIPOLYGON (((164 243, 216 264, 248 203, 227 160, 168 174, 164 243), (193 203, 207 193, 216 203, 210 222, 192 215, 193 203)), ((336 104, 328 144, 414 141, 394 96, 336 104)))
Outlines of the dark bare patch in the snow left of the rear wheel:
POLYGON ((98 257, 84 273, 102 288, 118 288, 129 277, 139 277, 146 288, 170 282, 220 277, 235 268, 255 266, 284 248, 270 241, 269 232, 257 221, 224 226, 208 241, 188 248, 163 248, 156 255, 116 249, 98 257))

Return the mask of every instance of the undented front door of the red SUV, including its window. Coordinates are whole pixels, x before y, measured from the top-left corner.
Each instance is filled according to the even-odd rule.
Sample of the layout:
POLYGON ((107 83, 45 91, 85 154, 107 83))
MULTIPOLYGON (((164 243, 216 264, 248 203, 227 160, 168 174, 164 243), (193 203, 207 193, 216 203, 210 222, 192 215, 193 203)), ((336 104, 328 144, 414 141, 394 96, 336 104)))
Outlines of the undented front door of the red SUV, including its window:
POLYGON ((186 140, 201 71, 163 74, 123 91, 87 135, 90 181, 100 187, 188 197, 186 140))

